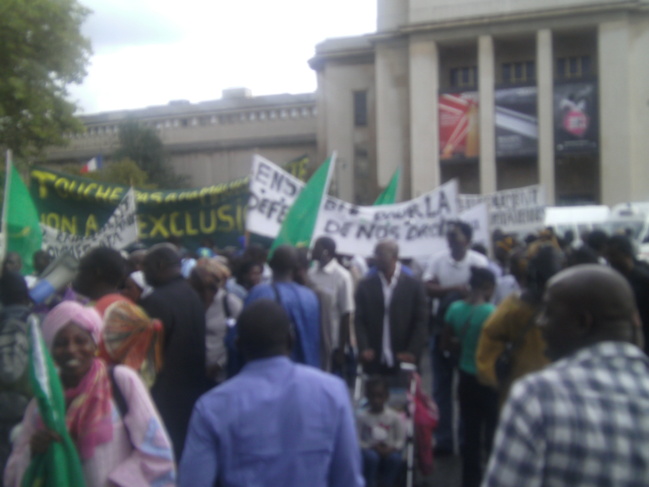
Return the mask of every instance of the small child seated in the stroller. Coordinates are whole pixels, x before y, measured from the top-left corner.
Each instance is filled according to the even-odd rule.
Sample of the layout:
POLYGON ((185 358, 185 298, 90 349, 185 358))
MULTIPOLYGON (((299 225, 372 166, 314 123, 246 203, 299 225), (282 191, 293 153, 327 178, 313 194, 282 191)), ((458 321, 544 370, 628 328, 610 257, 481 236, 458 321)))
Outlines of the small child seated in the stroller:
POLYGON ((385 403, 389 397, 383 377, 373 377, 365 387, 369 409, 356 418, 363 454, 366 487, 393 487, 396 484, 406 442, 403 417, 385 403))

